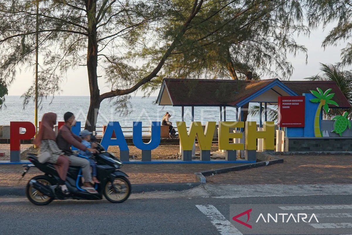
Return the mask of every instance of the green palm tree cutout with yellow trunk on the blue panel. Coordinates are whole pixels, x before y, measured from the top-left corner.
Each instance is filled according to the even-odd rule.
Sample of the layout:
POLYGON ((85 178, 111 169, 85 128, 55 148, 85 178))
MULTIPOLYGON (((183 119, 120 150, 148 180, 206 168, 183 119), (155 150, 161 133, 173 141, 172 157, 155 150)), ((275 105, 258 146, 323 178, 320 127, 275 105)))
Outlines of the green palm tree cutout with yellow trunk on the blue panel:
POLYGON ((320 111, 321 108, 325 110, 325 113, 329 112, 329 104, 333 104, 336 106, 339 106, 335 101, 331 100, 334 97, 335 93, 329 94, 331 92, 331 89, 327 89, 325 92, 322 91, 320 88, 316 88, 317 91, 310 91, 316 98, 310 99, 309 101, 313 103, 319 103, 318 108, 316 109, 315 112, 315 118, 314 118, 314 136, 315 137, 321 137, 321 131, 320 131, 320 111))

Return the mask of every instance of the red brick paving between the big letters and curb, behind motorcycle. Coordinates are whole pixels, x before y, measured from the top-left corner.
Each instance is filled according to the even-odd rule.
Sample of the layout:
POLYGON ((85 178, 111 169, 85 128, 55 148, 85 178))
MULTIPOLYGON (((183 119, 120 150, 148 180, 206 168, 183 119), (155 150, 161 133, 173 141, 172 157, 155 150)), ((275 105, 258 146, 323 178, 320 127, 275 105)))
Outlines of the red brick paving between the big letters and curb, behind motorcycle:
MULTIPOLYGON (((194 172, 214 170, 235 166, 224 164, 126 164, 121 170, 128 174, 132 184, 141 183, 184 183, 194 182, 194 172)), ((25 185, 32 177, 42 174, 31 168, 20 182, 23 167, 21 165, 0 165, 0 186, 25 185)))

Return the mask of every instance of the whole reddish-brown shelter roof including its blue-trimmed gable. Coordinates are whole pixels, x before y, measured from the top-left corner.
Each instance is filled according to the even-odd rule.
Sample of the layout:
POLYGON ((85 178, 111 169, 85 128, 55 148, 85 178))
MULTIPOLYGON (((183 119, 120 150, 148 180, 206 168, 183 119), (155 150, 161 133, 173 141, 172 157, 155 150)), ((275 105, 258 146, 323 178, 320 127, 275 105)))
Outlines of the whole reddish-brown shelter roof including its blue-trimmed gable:
MULTIPOLYGON (((333 81, 219 80, 165 78, 157 103, 173 106, 234 106, 249 102, 276 104, 278 96, 302 95, 319 87, 332 88, 339 108, 350 108, 348 100, 333 81)), ((330 108, 337 108, 329 105, 330 108)))

